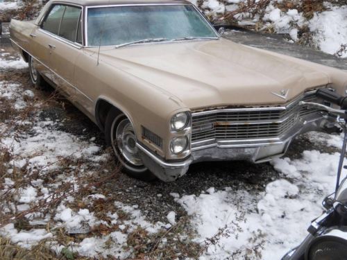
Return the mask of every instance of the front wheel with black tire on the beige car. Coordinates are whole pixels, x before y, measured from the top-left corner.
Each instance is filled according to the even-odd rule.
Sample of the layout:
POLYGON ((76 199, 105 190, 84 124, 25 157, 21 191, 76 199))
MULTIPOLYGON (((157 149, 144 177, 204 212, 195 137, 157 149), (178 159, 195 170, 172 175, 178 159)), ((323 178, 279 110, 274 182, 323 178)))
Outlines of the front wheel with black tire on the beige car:
POLYGON ((106 117, 105 139, 106 143, 112 146, 124 173, 145 182, 156 179, 138 155, 133 125, 126 115, 120 113, 115 107, 111 108, 106 117))

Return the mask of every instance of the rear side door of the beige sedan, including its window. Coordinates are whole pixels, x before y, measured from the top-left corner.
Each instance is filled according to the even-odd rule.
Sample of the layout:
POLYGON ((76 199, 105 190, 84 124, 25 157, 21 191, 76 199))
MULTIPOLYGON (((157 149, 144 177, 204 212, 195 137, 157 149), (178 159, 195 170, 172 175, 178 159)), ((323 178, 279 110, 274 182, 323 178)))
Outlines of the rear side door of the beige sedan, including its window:
POLYGON ((37 26, 31 33, 32 46, 31 53, 36 59, 35 67, 43 76, 52 80, 53 74, 50 71, 51 60, 51 42, 53 35, 57 35, 59 31, 60 21, 64 14, 65 6, 51 6, 43 23, 37 26), (37 62, 38 61, 38 62, 37 62))

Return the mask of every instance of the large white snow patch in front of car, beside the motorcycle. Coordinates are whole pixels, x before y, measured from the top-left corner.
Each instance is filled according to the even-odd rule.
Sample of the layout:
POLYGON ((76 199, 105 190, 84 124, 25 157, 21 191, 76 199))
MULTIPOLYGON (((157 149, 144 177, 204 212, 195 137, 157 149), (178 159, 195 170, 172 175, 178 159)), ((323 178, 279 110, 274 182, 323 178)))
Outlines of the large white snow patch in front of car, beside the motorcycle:
POLYGON ((203 259, 226 259, 230 252, 246 252, 262 239, 262 259, 280 259, 301 243, 310 221, 323 211, 321 201, 334 191, 338 161, 339 153, 305 150, 301 159, 274 159, 271 164, 282 178, 267 184, 259 196, 226 187, 174 198, 192 216, 197 242, 224 229, 225 235, 208 246, 203 259))

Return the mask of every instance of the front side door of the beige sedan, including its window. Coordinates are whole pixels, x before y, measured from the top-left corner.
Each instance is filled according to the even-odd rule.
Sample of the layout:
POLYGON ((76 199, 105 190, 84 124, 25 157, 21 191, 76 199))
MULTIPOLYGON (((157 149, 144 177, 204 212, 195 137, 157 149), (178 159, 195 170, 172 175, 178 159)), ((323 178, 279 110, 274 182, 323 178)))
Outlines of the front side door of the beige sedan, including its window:
MULTIPOLYGON (((55 37, 50 38, 51 57, 49 67, 53 72, 53 83, 72 102, 76 101, 74 87, 75 62, 82 49, 82 8, 80 6, 56 5, 63 9, 62 18, 55 37)), ((42 29, 45 28, 43 24, 42 29)))

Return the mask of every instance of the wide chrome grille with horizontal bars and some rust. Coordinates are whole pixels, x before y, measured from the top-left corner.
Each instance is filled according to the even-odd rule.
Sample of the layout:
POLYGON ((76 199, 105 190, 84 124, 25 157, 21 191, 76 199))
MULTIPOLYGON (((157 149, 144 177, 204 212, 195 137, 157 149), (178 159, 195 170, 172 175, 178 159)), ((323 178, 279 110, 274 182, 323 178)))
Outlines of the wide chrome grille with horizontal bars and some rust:
MULTIPOLYGON (((319 102, 315 96, 301 100, 319 102)), ((298 101, 283 107, 259 110, 214 110, 192 114, 192 142, 208 139, 244 140, 268 139, 285 134, 300 118, 316 113, 315 109, 298 106, 298 101)))

